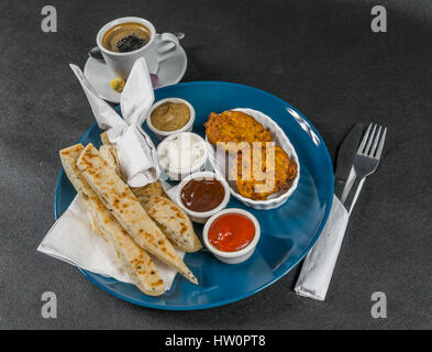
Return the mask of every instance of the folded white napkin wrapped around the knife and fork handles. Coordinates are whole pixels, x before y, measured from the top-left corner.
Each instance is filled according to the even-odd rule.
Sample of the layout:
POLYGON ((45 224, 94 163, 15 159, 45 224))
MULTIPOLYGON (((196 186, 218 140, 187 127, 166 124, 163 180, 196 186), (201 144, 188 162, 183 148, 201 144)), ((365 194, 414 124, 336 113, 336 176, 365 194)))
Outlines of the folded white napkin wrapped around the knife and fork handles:
MULTIPOLYGON (((350 185, 353 184, 354 179, 355 172, 352 169, 346 182, 346 188, 351 187, 350 185)), ((324 229, 303 261, 303 265, 295 287, 295 292, 298 295, 318 300, 325 299, 339 252, 341 250, 341 244, 345 235, 350 215, 363 187, 363 183, 364 180, 362 180, 358 186, 350 211, 345 209, 336 196, 333 196, 332 209, 324 229)), ((342 195, 342 199, 345 199, 346 196, 345 191, 342 195)))

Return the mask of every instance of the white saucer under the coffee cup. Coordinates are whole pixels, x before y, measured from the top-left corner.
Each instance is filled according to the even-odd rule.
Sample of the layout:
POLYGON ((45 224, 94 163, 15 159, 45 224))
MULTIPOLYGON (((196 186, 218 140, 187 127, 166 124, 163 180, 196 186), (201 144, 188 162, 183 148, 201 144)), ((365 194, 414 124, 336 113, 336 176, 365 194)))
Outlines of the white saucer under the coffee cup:
MULTIPOLYGON (((187 66, 188 59, 185 50, 178 46, 178 50, 171 56, 159 64, 158 82, 155 89, 179 82, 185 76, 187 66)), ((115 75, 108 69, 103 62, 89 57, 84 67, 84 75, 101 98, 114 103, 120 102, 120 92, 117 92, 110 86, 110 81, 115 78, 115 75)))

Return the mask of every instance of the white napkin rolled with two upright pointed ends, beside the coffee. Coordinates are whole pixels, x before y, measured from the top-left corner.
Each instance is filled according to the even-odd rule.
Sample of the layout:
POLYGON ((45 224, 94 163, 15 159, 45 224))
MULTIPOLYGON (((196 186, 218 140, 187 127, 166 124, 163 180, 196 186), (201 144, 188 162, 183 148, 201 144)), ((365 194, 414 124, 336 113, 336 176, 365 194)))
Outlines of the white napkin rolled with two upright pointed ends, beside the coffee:
POLYGON ((70 68, 81 84, 99 128, 108 130, 110 142, 117 146, 128 184, 141 187, 157 180, 160 170, 156 147, 141 127, 155 99, 145 59, 135 62, 121 94, 123 119, 98 96, 78 66, 70 65, 70 68))

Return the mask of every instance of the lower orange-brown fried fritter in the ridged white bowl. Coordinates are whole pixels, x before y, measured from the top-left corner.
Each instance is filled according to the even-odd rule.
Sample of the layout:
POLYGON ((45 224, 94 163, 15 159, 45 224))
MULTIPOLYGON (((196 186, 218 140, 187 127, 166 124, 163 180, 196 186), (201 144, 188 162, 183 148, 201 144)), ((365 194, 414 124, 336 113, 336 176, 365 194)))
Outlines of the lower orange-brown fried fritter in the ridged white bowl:
POLYGON ((265 200, 279 190, 288 189, 297 176, 296 162, 277 145, 262 147, 262 157, 254 157, 254 153, 259 153, 259 150, 251 148, 250 157, 248 153, 239 152, 236 164, 231 169, 232 176, 236 177, 239 193, 245 198, 265 200))

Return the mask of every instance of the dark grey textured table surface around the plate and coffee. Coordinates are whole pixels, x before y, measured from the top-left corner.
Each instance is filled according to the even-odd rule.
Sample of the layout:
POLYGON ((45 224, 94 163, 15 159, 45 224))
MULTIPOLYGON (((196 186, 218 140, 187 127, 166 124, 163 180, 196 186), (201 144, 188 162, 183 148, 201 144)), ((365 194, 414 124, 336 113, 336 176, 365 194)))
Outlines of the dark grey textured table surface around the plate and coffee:
POLYGON ((58 33, 42 33, 44 1, 0 3, 0 328, 430 329, 432 327, 432 3, 379 1, 388 32, 370 31, 374 1, 52 1, 58 33), (196 312, 117 299, 36 252, 54 222, 57 151, 93 123, 67 64, 84 67, 99 28, 123 15, 182 31, 190 80, 237 81, 302 111, 334 160, 356 122, 388 127, 380 167, 356 205, 324 302, 300 298, 299 267, 259 294, 196 312), (41 317, 52 290, 58 318, 41 317), (388 318, 373 319, 384 292, 388 318))

